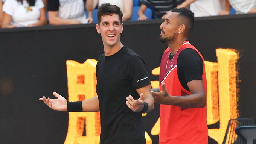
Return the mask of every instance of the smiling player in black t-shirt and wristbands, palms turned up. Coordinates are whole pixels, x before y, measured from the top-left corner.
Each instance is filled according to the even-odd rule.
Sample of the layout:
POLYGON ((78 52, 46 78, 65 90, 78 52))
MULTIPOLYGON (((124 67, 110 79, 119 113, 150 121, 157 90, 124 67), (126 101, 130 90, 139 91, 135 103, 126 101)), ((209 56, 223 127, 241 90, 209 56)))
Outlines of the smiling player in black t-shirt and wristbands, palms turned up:
POLYGON ((53 92, 57 99, 40 100, 58 111, 100 111, 100 144, 146 144, 142 113, 154 108, 154 99, 144 61, 120 41, 122 16, 115 5, 102 4, 98 8, 96 29, 105 53, 96 66, 97 96, 69 102, 53 92))

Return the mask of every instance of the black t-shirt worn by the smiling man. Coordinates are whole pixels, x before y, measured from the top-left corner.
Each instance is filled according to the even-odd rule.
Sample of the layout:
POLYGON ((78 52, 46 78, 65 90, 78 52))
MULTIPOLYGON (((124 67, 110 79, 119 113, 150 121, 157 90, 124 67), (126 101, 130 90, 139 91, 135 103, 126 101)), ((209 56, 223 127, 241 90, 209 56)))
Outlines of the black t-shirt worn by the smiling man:
POLYGON ((136 89, 149 85, 142 58, 128 47, 111 56, 102 54, 96 66, 101 114, 101 144, 145 144, 141 113, 126 105, 126 97, 139 99, 136 89))

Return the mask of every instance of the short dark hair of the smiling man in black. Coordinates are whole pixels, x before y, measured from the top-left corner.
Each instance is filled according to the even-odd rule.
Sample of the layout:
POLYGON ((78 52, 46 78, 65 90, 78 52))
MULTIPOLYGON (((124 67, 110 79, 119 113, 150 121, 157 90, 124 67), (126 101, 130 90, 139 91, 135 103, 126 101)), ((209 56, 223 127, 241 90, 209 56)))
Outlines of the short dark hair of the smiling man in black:
POLYGON ((122 23, 123 12, 120 10, 120 8, 116 5, 111 5, 110 3, 103 3, 98 8, 97 12, 98 24, 101 22, 101 17, 113 14, 118 14, 120 23, 122 23))

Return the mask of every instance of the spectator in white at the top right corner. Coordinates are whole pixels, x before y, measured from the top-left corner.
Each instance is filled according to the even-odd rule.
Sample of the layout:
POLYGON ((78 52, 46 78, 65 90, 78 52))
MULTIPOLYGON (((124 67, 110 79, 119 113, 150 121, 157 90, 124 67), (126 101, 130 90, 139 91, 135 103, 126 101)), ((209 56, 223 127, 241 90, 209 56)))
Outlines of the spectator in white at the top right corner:
POLYGON ((236 14, 256 13, 256 0, 226 0, 226 14, 229 14, 231 6, 236 14))

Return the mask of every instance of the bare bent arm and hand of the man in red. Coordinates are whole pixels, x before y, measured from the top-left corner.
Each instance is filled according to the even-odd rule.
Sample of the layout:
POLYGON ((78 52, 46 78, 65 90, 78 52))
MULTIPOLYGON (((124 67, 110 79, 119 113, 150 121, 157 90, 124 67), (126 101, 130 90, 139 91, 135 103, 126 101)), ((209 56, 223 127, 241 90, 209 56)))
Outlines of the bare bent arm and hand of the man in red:
POLYGON ((162 84, 162 91, 152 92, 155 102, 184 108, 200 108, 206 105, 206 94, 202 80, 192 80, 187 83, 192 94, 186 96, 171 96, 162 84))

